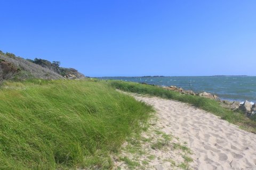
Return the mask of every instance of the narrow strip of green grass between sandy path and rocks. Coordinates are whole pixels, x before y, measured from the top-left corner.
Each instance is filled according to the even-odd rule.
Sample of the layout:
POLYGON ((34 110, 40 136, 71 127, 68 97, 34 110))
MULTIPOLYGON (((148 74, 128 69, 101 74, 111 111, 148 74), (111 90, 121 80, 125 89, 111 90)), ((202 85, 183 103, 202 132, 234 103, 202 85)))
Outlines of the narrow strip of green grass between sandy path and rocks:
POLYGON ((176 91, 167 90, 157 86, 150 86, 147 84, 122 81, 109 81, 108 83, 111 87, 123 91, 157 96, 161 98, 173 99, 182 101, 184 103, 189 103, 193 106, 204 109, 207 112, 211 112, 217 116, 220 116, 223 120, 236 124, 246 131, 256 133, 256 121, 250 120, 241 112, 233 112, 227 108, 221 107, 218 101, 199 96, 182 95, 176 91))

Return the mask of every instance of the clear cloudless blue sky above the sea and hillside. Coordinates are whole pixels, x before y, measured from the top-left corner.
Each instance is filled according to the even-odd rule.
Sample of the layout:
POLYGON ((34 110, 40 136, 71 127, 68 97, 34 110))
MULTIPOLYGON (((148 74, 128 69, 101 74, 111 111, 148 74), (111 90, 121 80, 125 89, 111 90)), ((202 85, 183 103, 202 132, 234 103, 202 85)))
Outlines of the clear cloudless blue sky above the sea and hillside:
POLYGON ((91 77, 256 75, 256 1, 0 0, 0 50, 91 77))

